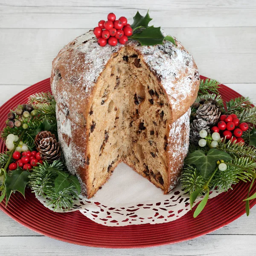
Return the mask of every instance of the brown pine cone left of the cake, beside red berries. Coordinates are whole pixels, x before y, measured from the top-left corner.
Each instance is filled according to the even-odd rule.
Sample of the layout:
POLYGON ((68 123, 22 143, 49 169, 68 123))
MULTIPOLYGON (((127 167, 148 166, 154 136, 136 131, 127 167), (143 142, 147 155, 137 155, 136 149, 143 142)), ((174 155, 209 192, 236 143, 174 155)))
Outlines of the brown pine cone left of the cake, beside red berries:
POLYGON ((38 152, 43 160, 53 162, 61 157, 60 145, 52 137, 43 138, 38 145, 38 152))

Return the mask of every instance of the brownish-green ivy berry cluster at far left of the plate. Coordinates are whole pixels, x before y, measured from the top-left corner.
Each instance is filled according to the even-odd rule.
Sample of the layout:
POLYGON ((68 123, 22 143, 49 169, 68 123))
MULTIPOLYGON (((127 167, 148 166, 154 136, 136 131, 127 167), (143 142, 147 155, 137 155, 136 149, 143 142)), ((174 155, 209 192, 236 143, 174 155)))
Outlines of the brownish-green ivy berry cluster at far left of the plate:
POLYGON ((23 123, 24 119, 27 119, 31 116, 36 116, 37 111, 31 105, 18 105, 15 111, 11 111, 7 115, 6 125, 10 128, 20 127, 27 129, 28 125, 23 123))

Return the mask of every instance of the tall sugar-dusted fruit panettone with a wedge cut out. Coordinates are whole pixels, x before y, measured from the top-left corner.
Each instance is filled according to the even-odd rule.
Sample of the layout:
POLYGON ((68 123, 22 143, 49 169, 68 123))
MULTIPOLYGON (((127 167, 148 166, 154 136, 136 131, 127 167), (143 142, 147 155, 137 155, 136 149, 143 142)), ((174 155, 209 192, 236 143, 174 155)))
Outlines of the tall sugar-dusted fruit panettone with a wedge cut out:
POLYGON ((164 193, 177 185, 199 74, 176 44, 99 47, 90 31, 54 59, 59 141, 88 198, 122 161, 164 193))

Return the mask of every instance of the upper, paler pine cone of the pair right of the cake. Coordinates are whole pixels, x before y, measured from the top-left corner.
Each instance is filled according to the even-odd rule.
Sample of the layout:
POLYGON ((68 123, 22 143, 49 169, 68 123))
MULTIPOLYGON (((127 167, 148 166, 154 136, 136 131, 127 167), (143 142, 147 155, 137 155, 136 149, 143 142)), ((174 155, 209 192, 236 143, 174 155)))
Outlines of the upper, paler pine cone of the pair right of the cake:
POLYGON ((207 125, 216 125, 221 115, 221 111, 211 103, 201 105, 196 111, 197 119, 204 119, 207 125))

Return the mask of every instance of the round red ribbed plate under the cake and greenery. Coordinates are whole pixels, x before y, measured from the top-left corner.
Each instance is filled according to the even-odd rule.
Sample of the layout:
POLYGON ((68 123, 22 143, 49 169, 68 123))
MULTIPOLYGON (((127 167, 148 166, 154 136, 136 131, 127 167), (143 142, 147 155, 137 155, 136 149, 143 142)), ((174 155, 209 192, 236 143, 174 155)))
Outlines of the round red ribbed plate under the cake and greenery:
MULTIPOLYGON (((201 76, 201 79, 205 79, 201 76)), ((50 79, 46 79, 23 90, 0 108, 0 130, 5 126, 7 113, 18 104, 27 102, 29 95, 50 90, 50 79)), ((221 96, 225 101, 241 96, 221 84, 221 96)), ((4 143, 0 142, 0 150, 4 143)), ((0 209, 20 224, 35 232, 61 241, 92 247, 140 248, 181 241, 203 236, 229 224, 245 213, 245 203, 249 183, 240 182, 207 203, 204 211, 193 218, 193 211, 183 217, 164 224, 142 224, 126 227, 106 227, 86 218, 79 211, 56 213, 45 208, 29 190, 26 200, 20 193, 11 196, 9 204, 0 204, 0 209)), ((256 186, 251 193, 256 192, 256 186)), ((256 199, 250 201, 250 206, 256 199)))

